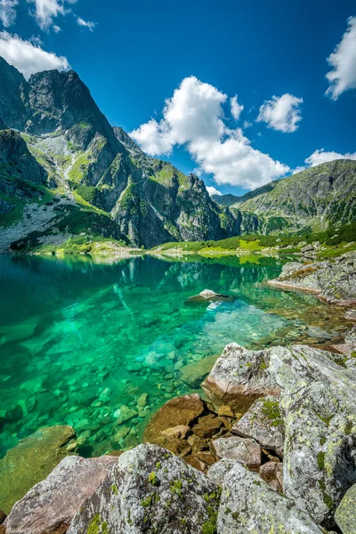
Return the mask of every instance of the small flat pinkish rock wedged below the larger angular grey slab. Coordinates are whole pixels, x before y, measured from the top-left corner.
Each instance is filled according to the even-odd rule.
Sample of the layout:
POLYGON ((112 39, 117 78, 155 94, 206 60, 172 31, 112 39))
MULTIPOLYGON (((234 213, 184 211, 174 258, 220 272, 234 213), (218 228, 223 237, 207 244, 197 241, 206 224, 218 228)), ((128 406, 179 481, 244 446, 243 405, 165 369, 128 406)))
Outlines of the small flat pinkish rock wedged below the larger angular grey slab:
POLYGON ((212 441, 216 456, 240 460, 249 469, 257 471, 261 465, 261 447, 255 440, 231 436, 212 441))

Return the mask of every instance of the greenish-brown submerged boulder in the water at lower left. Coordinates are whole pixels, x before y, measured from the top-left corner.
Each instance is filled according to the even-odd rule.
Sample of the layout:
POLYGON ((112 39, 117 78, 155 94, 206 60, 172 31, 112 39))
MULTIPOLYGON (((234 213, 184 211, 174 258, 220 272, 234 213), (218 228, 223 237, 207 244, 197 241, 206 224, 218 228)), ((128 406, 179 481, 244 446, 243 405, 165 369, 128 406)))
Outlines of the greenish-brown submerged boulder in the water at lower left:
POLYGON ((71 426, 46 426, 7 451, 0 460, 0 509, 5 514, 63 457, 73 454, 75 436, 71 426))

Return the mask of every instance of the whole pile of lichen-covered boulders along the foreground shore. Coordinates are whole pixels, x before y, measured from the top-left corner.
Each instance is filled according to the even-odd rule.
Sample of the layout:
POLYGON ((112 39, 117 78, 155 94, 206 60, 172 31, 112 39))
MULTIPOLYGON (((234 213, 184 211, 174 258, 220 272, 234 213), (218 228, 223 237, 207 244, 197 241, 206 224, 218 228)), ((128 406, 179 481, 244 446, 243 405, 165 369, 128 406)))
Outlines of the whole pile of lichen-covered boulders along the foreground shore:
POLYGON ((228 345, 207 401, 168 401, 119 457, 64 457, 0 532, 354 534, 355 359, 228 345))

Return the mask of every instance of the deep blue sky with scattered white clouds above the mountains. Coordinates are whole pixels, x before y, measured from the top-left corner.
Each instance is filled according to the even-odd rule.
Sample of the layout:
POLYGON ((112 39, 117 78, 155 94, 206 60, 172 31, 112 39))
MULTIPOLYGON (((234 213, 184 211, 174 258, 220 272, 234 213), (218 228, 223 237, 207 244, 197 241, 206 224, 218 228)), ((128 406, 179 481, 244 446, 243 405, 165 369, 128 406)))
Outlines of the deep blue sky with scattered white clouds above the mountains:
POLYGON ((207 185, 222 192, 240 194, 328 158, 319 153, 305 164, 316 150, 356 158, 356 40, 350 22, 344 56, 336 58, 334 67, 327 62, 345 35, 348 18, 356 15, 354 2, 72 0, 64 9, 59 0, 2 2, 0 31, 7 34, 0 34, 0 55, 12 53, 13 61, 6 59, 21 68, 20 45, 16 48, 9 36, 17 35, 22 42, 32 39, 37 49, 67 58, 112 125, 135 131, 143 149, 163 143, 169 155, 156 148, 156 156, 186 173, 198 169, 207 185), (12 46, 10 52, 6 46, 12 46), (333 69, 346 77, 336 80, 341 93, 334 92, 334 99, 333 93, 324 94, 330 85, 326 75, 333 69), (160 122, 166 99, 180 87, 168 117, 160 122), (235 95, 244 106, 239 120, 231 115, 235 95), (275 104, 282 101, 272 97, 282 95, 288 95, 279 109, 282 116, 288 109, 296 115, 276 115, 275 104), (204 133, 195 131, 189 117, 177 124, 177 113, 189 114, 197 98, 201 109, 193 120, 200 124, 206 119, 204 133), (179 107, 186 101, 188 111, 179 107), (205 109, 207 116, 202 115, 205 109), (140 129, 151 117, 156 121, 152 132, 140 129), (219 134, 209 121, 220 128, 219 134), (263 166, 266 170, 260 173, 263 166))

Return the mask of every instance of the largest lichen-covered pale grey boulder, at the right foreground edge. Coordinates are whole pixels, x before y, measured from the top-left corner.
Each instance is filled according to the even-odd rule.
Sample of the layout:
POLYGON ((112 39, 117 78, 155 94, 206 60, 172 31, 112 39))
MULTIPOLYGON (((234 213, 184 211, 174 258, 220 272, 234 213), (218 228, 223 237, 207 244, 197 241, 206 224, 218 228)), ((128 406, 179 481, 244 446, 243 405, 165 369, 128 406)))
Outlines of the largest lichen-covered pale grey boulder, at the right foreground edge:
MULTIPOLYGON (((336 507, 356 481, 356 368, 347 368, 349 360, 339 354, 303 345, 262 353, 234 346, 229 365, 223 354, 212 372, 221 395, 231 391, 231 383, 235 390, 241 385, 240 354, 249 362, 249 375, 242 375, 246 392, 258 391, 258 376, 260 391, 267 390, 266 384, 280 391, 285 495, 306 507, 316 522, 332 528, 336 507), (219 382, 216 376, 224 378, 227 367, 231 382, 219 382), (223 372, 217 373, 220 368, 223 372)), ((212 378, 208 376, 206 383, 212 378)))

